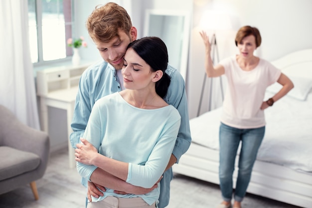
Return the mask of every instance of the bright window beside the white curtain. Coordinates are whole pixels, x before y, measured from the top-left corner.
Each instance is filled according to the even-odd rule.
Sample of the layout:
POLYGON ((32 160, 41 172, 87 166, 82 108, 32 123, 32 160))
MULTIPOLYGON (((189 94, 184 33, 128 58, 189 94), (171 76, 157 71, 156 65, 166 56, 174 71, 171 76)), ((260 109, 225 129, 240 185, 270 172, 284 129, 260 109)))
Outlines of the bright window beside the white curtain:
POLYGON ((72 55, 71 0, 28 0, 29 43, 34 64, 59 61, 72 55))

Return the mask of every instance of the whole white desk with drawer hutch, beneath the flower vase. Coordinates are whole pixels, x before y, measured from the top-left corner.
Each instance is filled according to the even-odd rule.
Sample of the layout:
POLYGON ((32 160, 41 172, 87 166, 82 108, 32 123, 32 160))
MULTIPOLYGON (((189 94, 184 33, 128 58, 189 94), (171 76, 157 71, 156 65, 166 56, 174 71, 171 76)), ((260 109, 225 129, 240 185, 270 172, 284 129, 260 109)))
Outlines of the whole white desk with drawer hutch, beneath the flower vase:
POLYGON ((66 110, 69 167, 76 166, 75 151, 71 147, 69 136, 72 133, 71 121, 78 92, 81 74, 91 63, 79 66, 59 66, 37 71, 37 94, 40 96, 41 129, 49 133, 48 107, 66 110))

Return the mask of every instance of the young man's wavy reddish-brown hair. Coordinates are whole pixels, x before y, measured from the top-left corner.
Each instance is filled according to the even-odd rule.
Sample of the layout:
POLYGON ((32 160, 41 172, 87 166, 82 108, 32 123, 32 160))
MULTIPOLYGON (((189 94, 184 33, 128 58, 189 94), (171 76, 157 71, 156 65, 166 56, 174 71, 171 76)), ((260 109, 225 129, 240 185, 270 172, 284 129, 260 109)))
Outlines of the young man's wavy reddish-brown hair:
POLYGON ((96 6, 87 19, 86 26, 93 41, 109 42, 119 37, 119 29, 130 36, 132 22, 126 9, 117 3, 109 2, 96 6))

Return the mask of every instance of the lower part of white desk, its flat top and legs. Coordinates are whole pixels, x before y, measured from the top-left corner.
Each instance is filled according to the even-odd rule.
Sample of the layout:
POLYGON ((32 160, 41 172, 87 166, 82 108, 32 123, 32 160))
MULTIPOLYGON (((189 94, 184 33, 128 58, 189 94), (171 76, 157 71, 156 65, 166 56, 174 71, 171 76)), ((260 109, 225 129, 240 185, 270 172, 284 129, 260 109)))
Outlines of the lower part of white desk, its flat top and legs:
MULTIPOLYGON (((58 90, 48 93, 46 96, 40 96, 40 115, 41 115, 41 128, 45 132, 49 132, 48 125, 48 107, 55 107, 66 110, 67 114, 67 135, 68 137, 72 133, 71 121, 73 118, 73 112, 75 107, 76 95, 78 87, 70 89, 58 90)), ((70 140, 68 139, 68 157, 69 167, 74 168, 76 166, 75 151, 71 147, 70 140)))

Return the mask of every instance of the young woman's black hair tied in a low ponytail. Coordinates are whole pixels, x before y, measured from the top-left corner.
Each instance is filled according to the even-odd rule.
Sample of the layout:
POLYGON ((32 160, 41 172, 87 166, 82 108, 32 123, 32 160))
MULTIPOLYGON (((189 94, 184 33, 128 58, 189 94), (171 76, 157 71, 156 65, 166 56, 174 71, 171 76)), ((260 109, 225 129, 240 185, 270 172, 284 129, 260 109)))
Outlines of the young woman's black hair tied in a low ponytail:
POLYGON ((170 84, 170 77, 165 70, 168 66, 168 51, 164 42, 159 37, 143 37, 131 42, 128 48, 132 48, 136 53, 147 62, 152 71, 161 70, 162 77, 156 82, 156 93, 164 98, 170 84))

